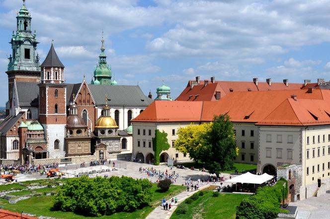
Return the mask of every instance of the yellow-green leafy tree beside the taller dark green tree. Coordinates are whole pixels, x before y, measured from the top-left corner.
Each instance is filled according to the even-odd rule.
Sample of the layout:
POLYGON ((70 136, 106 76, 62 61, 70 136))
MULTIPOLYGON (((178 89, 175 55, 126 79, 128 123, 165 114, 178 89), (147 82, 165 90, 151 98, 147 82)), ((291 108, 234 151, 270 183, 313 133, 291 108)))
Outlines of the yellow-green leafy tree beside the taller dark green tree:
POLYGON ((208 150, 207 143, 211 128, 212 122, 179 128, 174 148, 179 152, 188 153, 197 164, 208 150))

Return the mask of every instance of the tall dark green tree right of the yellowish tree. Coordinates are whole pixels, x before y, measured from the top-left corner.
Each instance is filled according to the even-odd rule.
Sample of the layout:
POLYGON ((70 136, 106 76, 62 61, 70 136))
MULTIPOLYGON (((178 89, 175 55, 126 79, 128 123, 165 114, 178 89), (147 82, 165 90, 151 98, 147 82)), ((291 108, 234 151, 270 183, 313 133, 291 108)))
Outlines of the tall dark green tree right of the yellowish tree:
POLYGON ((233 169, 238 149, 235 143, 234 126, 227 114, 214 116, 207 139, 208 152, 204 154, 203 161, 208 170, 218 176, 220 170, 233 169))

